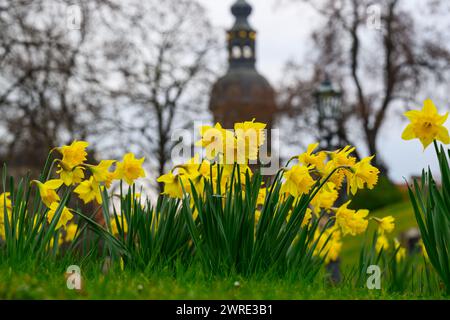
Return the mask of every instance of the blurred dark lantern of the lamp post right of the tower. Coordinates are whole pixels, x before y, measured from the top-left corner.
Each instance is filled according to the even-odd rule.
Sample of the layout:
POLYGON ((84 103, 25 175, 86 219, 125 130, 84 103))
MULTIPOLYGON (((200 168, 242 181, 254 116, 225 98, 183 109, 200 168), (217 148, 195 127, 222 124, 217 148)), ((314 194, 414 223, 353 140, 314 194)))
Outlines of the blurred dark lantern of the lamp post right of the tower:
POLYGON ((314 92, 318 111, 318 130, 321 147, 326 150, 341 148, 345 143, 343 131, 342 92, 327 77, 314 92))

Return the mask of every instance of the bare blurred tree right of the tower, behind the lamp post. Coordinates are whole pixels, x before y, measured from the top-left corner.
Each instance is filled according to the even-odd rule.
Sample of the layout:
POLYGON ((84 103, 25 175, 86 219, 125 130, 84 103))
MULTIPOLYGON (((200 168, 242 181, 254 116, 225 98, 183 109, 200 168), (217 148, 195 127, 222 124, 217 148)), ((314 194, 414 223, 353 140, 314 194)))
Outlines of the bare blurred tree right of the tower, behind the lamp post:
MULTIPOLYGON (((297 2, 314 6, 323 19, 313 34, 313 63, 320 70, 289 83, 283 91, 286 87, 304 91, 318 72, 331 74, 344 88, 344 105, 360 124, 368 151, 377 154, 386 115, 398 110, 399 102, 416 100, 430 83, 448 79, 449 39, 445 20, 439 23, 434 10, 444 1, 422 2, 420 15, 411 1, 404 0, 297 2), (425 16, 433 24, 424 26, 425 16)), ((386 172, 382 160, 376 161, 386 172)))

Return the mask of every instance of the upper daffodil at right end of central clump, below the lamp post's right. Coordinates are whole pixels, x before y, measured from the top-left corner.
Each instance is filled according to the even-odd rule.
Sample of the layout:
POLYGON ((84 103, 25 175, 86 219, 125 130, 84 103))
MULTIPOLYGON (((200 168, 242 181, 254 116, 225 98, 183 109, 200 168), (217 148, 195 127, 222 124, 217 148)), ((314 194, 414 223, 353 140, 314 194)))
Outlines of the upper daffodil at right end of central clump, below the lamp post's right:
POLYGON ((358 189, 364 189, 364 185, 367 185, 368 189, 373 189, 377 184, 380 170, 370 164, 372 159, 373 156, 364 158, 353 166, 353 174, 348 183, 353 195, 356 194, 358 189))

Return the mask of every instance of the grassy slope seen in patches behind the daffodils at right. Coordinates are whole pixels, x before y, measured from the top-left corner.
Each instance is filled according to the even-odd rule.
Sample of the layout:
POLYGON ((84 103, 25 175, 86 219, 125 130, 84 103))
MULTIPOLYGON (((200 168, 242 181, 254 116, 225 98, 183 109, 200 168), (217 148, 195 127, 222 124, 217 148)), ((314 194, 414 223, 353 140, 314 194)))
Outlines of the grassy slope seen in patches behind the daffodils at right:
MULTIPOLYGON (((371 212, 371 216, 382 218, 385 216, 393 216, 395 218, 395 230, 392 237, 399 238, 400 235, 410 228, 417 228, 417 222, 414 218, 414 211, 409 201, 394 204, 392 206, 371 212)), ((369 223, 369 232, 372 234, 376 229, 375 223, 369 223)), ((342 264, 344 266, 354 265, 358 261, 359 252, 364 242, 364 235, 356 237, 347 237, 344 239, 342 249, 342 264)))

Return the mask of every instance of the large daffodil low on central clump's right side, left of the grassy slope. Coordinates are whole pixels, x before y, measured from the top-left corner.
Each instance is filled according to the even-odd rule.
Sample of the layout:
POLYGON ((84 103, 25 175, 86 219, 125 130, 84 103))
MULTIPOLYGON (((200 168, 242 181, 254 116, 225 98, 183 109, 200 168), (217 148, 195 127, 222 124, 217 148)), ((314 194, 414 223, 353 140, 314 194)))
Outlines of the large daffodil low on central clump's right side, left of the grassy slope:
POLYGON ((341 228, 345 236, 351 234, 356 236, 367 229, 368 221, 365 219, 369 210, 351 210, 348 209, 350 201, 340 206, 336 211, 336 224, 341 228))

